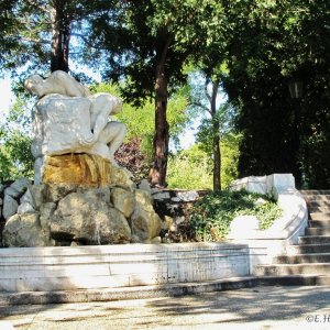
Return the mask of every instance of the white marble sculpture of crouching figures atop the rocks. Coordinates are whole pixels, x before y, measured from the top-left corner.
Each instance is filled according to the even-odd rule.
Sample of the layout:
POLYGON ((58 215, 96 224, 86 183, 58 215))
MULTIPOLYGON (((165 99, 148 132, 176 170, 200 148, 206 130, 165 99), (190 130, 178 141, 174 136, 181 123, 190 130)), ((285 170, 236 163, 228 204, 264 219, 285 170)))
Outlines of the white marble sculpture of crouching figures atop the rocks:
POLYGON ((122 108, 119 98, 107 92, 90 96, 87 88, 61 70, 46 79, 33 75, 24 87, 40 97, 33 109, 36 184, 44 156, 87 153, 114 163, 113 155, 127 132, 123 123, 109 121, 109 116, 122 108))

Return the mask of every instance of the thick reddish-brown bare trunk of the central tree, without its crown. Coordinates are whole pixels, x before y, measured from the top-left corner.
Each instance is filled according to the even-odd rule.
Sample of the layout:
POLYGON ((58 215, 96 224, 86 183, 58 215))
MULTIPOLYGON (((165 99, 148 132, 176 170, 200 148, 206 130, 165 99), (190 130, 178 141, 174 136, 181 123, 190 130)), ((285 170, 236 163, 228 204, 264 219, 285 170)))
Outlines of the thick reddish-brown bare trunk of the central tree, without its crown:
POLYGON ((156 67, 155 79, 155 135, 154 156, 148 174, 151 184, 165 187, 167 172, 167 155, 169 129, 166 119, 167 110, 167 79, 165 77, 164 63, 156 67))

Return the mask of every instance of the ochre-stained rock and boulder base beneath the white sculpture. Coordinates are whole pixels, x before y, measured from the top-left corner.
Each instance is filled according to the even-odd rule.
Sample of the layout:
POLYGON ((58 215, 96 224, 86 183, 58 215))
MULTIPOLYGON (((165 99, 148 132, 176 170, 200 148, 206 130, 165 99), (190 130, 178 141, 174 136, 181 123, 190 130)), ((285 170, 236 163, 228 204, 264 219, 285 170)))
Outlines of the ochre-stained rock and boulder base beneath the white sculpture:
POLYGON ((4 246, 160 242, 151 194, 131 174, 89 154, 46 157, 42 185, 28 185, 3 230, 4 246))

